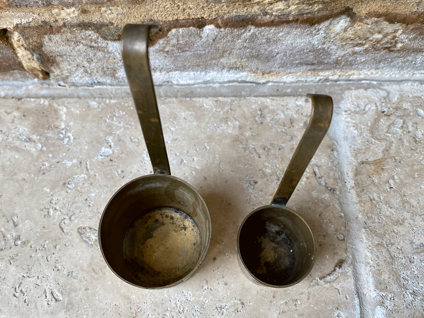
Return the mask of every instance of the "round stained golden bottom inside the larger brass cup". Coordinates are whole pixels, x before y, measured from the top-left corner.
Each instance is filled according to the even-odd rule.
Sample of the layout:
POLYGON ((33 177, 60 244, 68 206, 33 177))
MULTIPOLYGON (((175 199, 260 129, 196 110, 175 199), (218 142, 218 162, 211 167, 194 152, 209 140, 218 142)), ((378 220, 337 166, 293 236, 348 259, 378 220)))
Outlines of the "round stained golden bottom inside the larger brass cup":
POLYGON ((174 208, 143 213, 125 234, 129 270, 143 283, 161 287, 184 278, 201 254, 201 234, 192 218, 174 208))

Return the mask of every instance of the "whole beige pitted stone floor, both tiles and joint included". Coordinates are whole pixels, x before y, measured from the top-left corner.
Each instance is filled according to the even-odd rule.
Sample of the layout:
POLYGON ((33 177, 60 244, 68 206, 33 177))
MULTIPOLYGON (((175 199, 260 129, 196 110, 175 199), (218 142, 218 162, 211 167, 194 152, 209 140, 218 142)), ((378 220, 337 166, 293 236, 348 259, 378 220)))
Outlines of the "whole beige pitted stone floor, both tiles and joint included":
POLYGON ((112 89, 1 99, 0 315, 421 317, 424 84, 279 89, 288 96, 159 98, 171 171, 212 219, 204 262, 165 290, 122 282, 98 247, 109 198, 152 173, 131 99, 112 89), (288 204, 311 226, 318 255, 298 285, 261 287, 239 268, 237 231, 271 201, 310 115, 305 92, 335 105, 288 204))

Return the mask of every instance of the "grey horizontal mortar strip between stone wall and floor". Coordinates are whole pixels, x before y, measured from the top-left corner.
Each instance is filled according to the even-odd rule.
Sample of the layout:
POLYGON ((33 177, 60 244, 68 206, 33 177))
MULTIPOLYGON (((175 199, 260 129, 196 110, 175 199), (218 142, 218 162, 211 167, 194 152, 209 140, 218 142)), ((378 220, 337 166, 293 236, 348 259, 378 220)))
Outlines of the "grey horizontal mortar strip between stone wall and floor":
MULTIPOLYGON (((156 85, 158 98, 217 98, 217 97, 282 97, 303 96, 338 89, 371 89, 376 86, 415 82, 424 85, 424 80, 397 81, 316 81, 316 82, 268 82, 245 81, 204 84, 156 85)), ((0 82, 0 98, 130 98, 126 84, 109 86, 53 86, 46 81, 0 82)))

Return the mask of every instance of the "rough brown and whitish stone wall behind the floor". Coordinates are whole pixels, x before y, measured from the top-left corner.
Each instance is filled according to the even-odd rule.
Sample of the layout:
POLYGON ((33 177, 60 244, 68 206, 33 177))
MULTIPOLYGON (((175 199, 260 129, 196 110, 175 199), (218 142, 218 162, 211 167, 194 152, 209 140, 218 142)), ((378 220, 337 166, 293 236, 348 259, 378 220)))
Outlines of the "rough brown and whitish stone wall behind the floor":
POLYGON ((382 0, 3 0, 0 81, 30 73, 65 85, 125 83, 126 23, 159 25, 156 84, 421 79, 423 9, 382 0))

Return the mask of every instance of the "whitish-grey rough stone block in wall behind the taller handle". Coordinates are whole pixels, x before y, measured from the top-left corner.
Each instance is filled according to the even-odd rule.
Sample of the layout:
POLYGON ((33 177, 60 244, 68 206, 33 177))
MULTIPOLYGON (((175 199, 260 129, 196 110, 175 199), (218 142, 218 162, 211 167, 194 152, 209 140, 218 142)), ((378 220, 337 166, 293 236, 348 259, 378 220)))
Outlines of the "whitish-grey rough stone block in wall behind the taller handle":
MULTIPOLYGON (((28 23, 16 30, 53 82, 125 83, 122 25, 28 23)), ((173 29, 149 50, 156 84, 423 78, 424 25, 342 16, 317 25, 173 29), (229 40, 233 39, 233 40, 229 40)))

